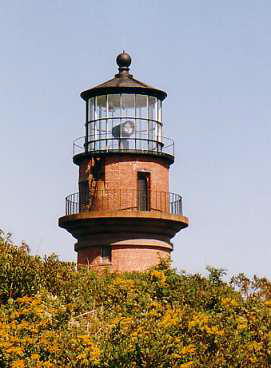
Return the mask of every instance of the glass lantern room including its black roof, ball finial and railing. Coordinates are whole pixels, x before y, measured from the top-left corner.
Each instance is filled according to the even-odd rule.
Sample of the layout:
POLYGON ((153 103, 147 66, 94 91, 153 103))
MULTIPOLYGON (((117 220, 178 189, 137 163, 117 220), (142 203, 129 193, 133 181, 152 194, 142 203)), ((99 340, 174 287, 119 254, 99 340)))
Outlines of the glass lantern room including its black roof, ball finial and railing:
POLYGON ((166 93, 135 80, 129 74, 130 63, 123 52, 117 57, 119 73, 114 79, 81 93, 86 131, 75 141, 75 153, 82 146, 85 152, 173 152, 173 141, 163 137, 166 93))

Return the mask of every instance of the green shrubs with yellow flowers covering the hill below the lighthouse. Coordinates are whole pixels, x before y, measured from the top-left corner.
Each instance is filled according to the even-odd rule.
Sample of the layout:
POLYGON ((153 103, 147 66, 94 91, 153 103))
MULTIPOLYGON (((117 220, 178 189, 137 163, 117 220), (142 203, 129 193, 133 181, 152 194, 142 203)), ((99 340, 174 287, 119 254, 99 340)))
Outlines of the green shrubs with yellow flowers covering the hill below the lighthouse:
POLYGON ((77 270, 0 241, 0 367, 265 368, 271 283, 77 270))

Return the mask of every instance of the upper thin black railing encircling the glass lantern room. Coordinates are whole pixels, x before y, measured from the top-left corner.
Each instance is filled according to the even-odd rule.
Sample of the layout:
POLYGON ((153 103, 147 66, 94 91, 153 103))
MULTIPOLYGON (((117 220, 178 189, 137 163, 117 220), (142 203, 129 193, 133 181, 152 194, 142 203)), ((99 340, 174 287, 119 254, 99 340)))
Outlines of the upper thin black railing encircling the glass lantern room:
POLYGON ((90 139, 87 144, 85 137, 73 142, 73 155, 87 152, 143 152, 155 155, 167 154, 174 156, 174 141, 163 137, 162 141, 148 138, 105 138, 90 139))

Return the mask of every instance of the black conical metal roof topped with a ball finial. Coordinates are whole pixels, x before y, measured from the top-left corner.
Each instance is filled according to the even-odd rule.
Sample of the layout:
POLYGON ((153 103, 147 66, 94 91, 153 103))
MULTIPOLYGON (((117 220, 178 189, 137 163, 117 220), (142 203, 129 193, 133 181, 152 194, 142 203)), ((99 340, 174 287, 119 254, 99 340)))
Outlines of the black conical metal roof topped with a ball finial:
POLYGON ((100 96, 111 93, 138 93, 143 95, 155 96, 160 100, 167 97, 166 92, 147 85, 133 78, 129 74, 129 66, 131 64, 131 57, 126 52, 122 52, 117 56, 117 64, 119 66, 119 73, 113 79, 99 84, 93 88, 81 92, 80 96, 87 101, 92 96, 100 96))

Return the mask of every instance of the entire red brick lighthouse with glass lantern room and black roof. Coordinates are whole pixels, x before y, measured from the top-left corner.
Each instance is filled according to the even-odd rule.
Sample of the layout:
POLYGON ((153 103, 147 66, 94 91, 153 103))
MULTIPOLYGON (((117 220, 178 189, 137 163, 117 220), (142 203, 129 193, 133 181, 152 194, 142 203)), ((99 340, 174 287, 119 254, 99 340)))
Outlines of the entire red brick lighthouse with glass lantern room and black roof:
POLYGON ((174 142, 163 137, 167 94, 134 79, 130 56, 119 72, 81 93, 85 136, 74 141, 79 193, 66 197, 59 226, 76 239, 78 263, 95 269, 141 271, 172 251, 170 239, 188 226, 182 198, 169 192, 174 142))

